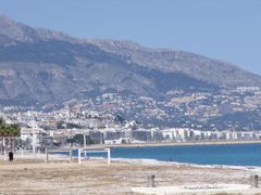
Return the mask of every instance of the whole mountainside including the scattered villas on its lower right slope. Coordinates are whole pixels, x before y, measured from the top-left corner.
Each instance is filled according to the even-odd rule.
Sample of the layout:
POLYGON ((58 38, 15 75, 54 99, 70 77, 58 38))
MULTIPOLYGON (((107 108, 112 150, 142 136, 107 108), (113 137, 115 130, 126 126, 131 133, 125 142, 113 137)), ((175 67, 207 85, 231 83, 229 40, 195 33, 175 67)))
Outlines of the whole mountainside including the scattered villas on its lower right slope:
POLYGON ((77 39, 0 16, 0 108, 55 108, 112 93, 115 100, 89 106, 110 104, 102 110, 147 123, 220 129, 249 116, 238 127, 249 129, 259 127, 252 123, 261 114, 259 89, 260 76, 231 63, 132 41, 77 39))

